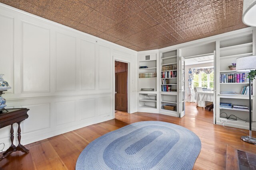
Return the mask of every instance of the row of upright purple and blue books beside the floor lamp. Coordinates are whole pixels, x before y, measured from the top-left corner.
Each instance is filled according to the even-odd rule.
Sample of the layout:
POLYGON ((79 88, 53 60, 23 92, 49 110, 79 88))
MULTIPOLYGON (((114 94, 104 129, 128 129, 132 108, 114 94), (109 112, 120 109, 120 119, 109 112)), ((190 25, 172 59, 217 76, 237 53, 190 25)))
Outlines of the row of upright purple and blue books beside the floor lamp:
POLYGON ((239 74, 220 74, 221 83, 245 83, 246 82, 246 73, 239 74))

